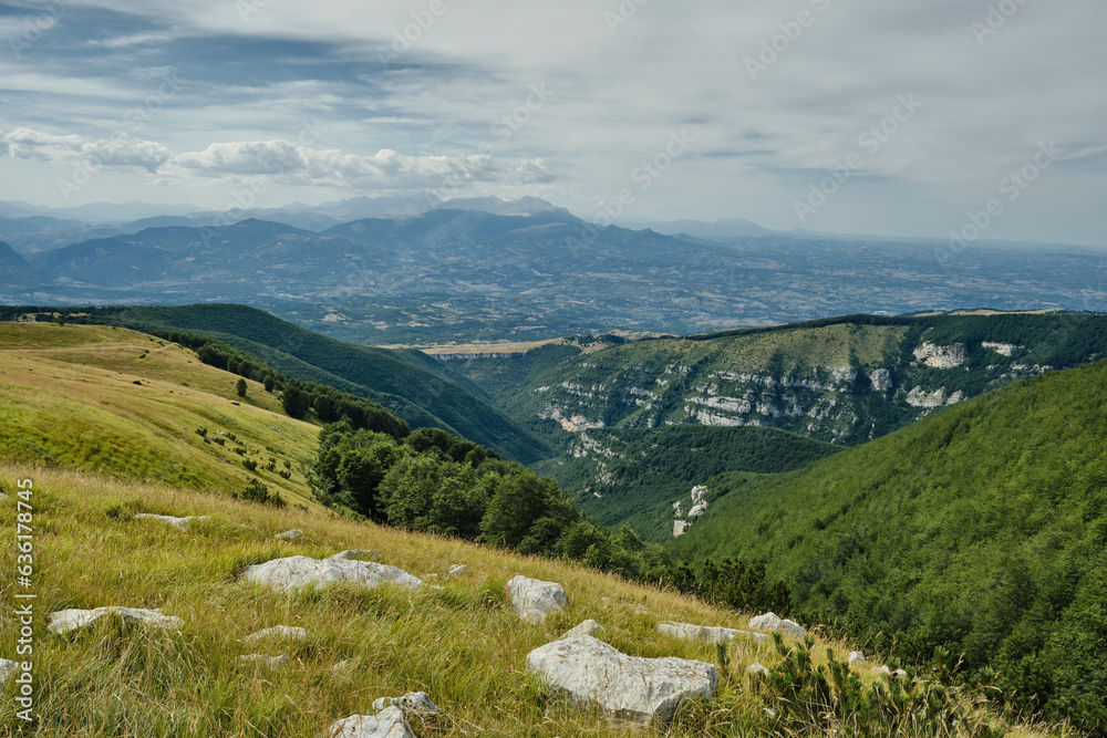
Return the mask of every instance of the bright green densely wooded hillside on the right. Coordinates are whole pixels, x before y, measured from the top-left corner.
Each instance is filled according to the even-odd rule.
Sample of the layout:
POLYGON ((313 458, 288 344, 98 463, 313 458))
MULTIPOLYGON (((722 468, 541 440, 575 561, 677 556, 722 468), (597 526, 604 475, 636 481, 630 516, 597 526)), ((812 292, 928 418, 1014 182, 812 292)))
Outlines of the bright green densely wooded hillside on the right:
POLYGON ((732 474, 671 550, 765 561, 801 616, 999 672, 1107 730, 1107 362, 984 395, 785 475, 732 474))

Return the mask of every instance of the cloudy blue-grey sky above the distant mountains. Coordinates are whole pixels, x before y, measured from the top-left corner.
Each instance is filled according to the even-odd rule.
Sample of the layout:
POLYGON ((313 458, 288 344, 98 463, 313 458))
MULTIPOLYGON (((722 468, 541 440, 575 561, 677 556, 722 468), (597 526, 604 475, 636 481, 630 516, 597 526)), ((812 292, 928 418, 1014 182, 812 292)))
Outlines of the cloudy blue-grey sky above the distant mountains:
POLYGON ((1107 246, 1105 27, 1101 0, 0 2, 0 199, 430 189, 1107 246))

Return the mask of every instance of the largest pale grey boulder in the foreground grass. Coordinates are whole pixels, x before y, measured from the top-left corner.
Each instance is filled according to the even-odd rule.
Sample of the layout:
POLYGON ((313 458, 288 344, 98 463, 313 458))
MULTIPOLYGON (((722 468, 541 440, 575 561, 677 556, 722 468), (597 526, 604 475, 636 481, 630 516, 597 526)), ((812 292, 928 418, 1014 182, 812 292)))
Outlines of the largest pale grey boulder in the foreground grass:
POLYGON ((527 669, 579 709, 594 705, 606 717, 635 723, 665 721, 682 700, 711 699, 718 687, 718 671, 711 664, 628 656, 587 635, 535 648, 527 669))

